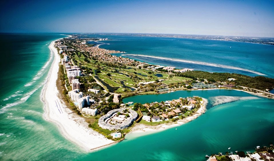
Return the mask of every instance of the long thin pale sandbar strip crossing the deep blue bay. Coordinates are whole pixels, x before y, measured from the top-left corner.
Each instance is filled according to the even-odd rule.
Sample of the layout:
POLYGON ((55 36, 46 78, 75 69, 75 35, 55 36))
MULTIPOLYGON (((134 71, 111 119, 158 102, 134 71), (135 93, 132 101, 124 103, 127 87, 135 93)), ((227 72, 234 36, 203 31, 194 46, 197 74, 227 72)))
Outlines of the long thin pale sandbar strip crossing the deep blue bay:
POLYGON ((222 64, 214 64, 214 63, 206 63, 206 62, 201 62, 201 61, 189 61, 189 60, 184 60, 184 59, 174 59, 174 58, 166 58, 166 57, 156 57, 156 56, 149 56, 149 55, 140 55, 140 54, 123 54, 122 56, 135 56, 135 57, 147 57, 147 58, 155 58, 155 59, 162 59, 162 60, 169 60, 169 61, 177 61, 177 62, 183 62, 183 63, 191 63, 191 64, 198 64, 198 65, 206 65, 206 66, 211 66, 211 67, 219 67, 219 68, 226 68, 226 69, 235 69, 235 70, 240 70, 240 71, 246 71, 250 73, 254 73, 257 75, 265 75, 263 73, 259 73, 256 71, 252 71, 249 69, 244 69, 240 67, 233 67, 233 66, 228 66, 228 65, 222 65, 222 64))

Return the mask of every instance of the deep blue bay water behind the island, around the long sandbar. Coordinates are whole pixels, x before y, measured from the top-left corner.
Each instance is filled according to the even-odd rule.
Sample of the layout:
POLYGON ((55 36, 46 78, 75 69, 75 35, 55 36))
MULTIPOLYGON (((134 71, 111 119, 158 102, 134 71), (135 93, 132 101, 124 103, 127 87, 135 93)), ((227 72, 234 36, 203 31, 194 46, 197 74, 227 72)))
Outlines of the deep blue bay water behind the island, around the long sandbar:
MULTIPOLYGON (((262 73, 267 77, 274 78, 273 58, 274 45, 263 45, 254 43, 242 43, 233 41, 198 40, 168 37, 138 37, 127 35, 88 35, 90 37, 104 37, 112 39, 101 41, 110 45, 101 45, 100 48, 125 51, 126 56, 139 61, 176 68, 192 68, 194 70, 209 72, 229 72, 250 76, 258 74, 238 69, 228 69, 215 67, 214 65, 204 65, 211 63, 238 67, 262 73), (127 55, 130 54, 130 55, 127 55), (140 57, 133 55, 147 55, 140 57), (156 59, 153 57, 163 57, 169 59, 179 59, 179 61, 156 59), (181 60, 198 61, 202 63, 193 64, 180 62, 181 60)), ((123 56, 124 54, 116 54, 123 56)))

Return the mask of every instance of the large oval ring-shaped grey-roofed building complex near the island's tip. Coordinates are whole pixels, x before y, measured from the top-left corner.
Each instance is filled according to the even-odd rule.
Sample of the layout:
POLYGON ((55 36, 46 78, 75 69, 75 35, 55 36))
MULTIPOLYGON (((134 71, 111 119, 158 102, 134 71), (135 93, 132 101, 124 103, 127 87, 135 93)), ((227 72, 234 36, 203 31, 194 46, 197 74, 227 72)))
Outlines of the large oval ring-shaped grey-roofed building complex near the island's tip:
POLYGON ((101 128, 108 130, 123 130, 131 126, 137 117, 137 112, 132 109, 118 108, 111 110, 104 116, 100 117, 98 125, 101 128), (125 111, 126 113, 124 113, 125 111), (120 112, 121 115, 118 116, 118 112, 120 112), (128 116, 126 117, 124 114, 128 114, 128 116))

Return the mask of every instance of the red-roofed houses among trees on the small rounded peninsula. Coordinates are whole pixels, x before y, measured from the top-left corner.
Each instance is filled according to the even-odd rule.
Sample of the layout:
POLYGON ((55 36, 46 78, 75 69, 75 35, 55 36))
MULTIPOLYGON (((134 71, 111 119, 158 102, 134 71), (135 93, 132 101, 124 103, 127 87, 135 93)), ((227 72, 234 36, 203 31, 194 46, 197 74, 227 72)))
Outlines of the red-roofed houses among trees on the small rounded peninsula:
POLYGON ((200 101, 197 97, 194 98, 179 98, 176 100, 169 100, 165 102, 153 102, 143 104, 144 107, 148 109, 151 114, 159 114, 159 116, 147 116, 145 112, 143 112, 143 120, 150 122, 158 122, 162 119, 174 118, 178 117, 178 115, 183 114, 186 110, 192 110, 195 107, 200 105, 200 101))

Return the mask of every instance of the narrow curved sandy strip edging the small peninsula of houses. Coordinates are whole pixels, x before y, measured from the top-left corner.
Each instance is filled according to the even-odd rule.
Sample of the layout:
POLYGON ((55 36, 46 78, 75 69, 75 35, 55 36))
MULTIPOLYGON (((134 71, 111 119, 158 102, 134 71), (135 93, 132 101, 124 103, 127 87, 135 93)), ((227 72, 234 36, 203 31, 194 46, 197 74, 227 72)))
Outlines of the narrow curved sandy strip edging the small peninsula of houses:
POLYGON ((156 133, 156 132, 161 132, 163 130, 172 128, 172 127, 177 127, 180 126, 182 124, 188 123, 196 118, 198 118, 199 116, 201 116, 205 111, 206 111, 206 107, 208 104, 208 100, 206 98, 202 98, 203 102, 202 102, 202 106, 196 111, 196 114, 194 114, 193 116, 188 116, 184 119, 180 119, 177 120, 174 123, 170 123, 170 124, 160 124, 157 126, 151 126, 151 125, 144 125, 144 124, 135 124, 135 126, 133 126, 131 128, 132 131, 128 132, 126 135, 126 138, 130 137, 130 138, 136 138, 139 136, 144 136, 144 135, 148 135, 148 134, 152 134, 152 133, 156 133), (128 134, 134 135, 134 134, 138 134, 138 136, 128 136, 128 134))

